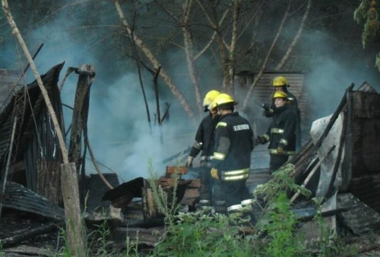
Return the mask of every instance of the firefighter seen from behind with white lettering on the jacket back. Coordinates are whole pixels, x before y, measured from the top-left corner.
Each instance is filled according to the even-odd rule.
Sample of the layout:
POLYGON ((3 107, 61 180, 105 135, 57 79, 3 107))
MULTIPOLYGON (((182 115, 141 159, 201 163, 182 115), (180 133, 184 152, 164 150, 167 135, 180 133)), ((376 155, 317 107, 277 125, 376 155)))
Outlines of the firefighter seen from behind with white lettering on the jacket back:
POLYGON ((250 174, 253 131, 249 122, 234 112, 235 104, 227 94, 220 94, 213 103, 221 117, 216 125, 211 176, 221 183, 222 192, 215 192, 215 197, 224 198, 228 213, 239 211, 241 201, 251 199, 245 182, 250 174))

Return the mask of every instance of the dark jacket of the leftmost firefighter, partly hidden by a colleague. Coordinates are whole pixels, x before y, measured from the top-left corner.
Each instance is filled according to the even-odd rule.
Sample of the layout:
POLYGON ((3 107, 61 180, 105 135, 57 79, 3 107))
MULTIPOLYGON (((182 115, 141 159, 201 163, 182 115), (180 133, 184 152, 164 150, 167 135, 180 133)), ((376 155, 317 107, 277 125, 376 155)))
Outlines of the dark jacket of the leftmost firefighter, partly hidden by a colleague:
POLYGON ((204 117, 199 124, 197 134, 195 136, 195 142, 189 156, 196 157, 200 151, 201 162, 210 161, 211 156, 214 154, 214 140, 215 140, 215 127, 219 121, 220 116, 213 117, 208 114, 204 117))

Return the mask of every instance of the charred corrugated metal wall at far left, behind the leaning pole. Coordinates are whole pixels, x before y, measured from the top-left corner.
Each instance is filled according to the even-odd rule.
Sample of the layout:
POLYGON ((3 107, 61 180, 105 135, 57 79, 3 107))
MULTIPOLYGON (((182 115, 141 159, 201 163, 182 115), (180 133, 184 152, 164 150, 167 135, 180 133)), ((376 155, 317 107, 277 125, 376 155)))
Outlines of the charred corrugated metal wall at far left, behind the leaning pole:
MULTIPOLYGON (((60 122, 61 130, 64 128, 64 123, 57 82, 62 67, 63 63, 56 65, 52 67, 47 74, 41 76, 60 122)), ((53 124, 50 120, 40 88, 34 81, 27 86, 27 89, 28 101, 21 125, 16 162, 25 161, 27 186, 29 189, 35 191, 38 177, 37 163, 39 163, 39 160, 44 159, 47 161, 61 162, 62 157, 58 147, 58 139, 56 138, 53 124)), ((24 91, 24 88, 18 90, 15 96, 12 97, 10 103, 4 108, 3 112, 0 113, 0 173, 5 166, 5 160, 9 150, 15 98, 25 97, 24 91)))

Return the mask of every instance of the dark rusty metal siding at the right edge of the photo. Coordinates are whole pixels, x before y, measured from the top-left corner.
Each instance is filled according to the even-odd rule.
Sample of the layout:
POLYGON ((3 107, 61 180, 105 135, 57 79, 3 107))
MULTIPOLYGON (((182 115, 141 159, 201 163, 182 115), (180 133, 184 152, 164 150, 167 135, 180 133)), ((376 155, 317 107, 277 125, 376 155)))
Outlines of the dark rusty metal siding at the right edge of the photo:
MULTIPOLYGON (((380 95, 353 91, 351 181, 348 191, 380 213, 380 95)), ((350 134, 348 134, 350 136, 350 134)))

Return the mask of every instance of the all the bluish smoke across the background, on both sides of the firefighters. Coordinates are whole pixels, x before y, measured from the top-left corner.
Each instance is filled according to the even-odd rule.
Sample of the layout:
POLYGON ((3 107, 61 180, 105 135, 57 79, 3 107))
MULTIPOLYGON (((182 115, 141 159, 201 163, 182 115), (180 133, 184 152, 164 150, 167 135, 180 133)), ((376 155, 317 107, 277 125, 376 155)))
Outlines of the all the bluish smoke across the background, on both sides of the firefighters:
MULTIPOLYGON (((144 36, 147 34, 160 36, 161 32, 167 35, 166 23, 160 21, 160 26, 155 24, 159 20, 157 15, 163 14, 151 12, 149 6, 145 5, 150 2, 152 1, 144 0, 128 5, 128 8, 132 5, 140 8, 138 13, 139 11, 144 14, 148 13, 146 15, 148 18, 151 17, 150 15, 156 15, 154 18, 157 20, 144 20, 145 16, 138 16, 137 23, 140 26, 137 27, 137 32, 145 32, 144 36), (151 28, 149 29, 149 26, 146 25, 151 28), (139 30, 143 26, 147 28, 139 30)), ((72 2, 67 1, 66 3, 72 2)), ((131 15, 131 8, 127 11, 126 14, 131 15)), ((268 12, 271 10, 268 9, 268 12)), ((131 20, 130 16, 127 15, 127 17, 131 20)), ((155 171, 163 174, 164 166, 174 163, 164 164, 162 159, 191 145, 196 128, 189 122, 182 106, 161 79, 159 79, 161 115, 165 109, 164 103, 171 103, 170 120, 164 122, 161 130, 157 123, 156 126, 154 125, 156 102, 153 93, 153 77, 149 72, 143 71, 144 86, 152 118, 150 132, 137 77, 136 63, 124 56, 127 51, 125 45, 128 42, 126 36, 120 34, 120 28, 115 28, 118 22, 119 17, 111 1, 89 1, 54 14, 45 23, 28 31, 25 35, 30 50, 36 49, 41 42, 45 43, 36 58, 36 65, 41 74, 63 61, 66 62, 66 65, 61 72, 61 79, 68 66, 79 67, 84 63, 94 65, 96 78, 91 87, 88 133, 96 158, 116 170, 124 180, 136 176, 147 177, 149 159, 153 161, 155 171), (99 13, 99 19, 91 19, 91 24, 89 24, 89 12, 99 13)), ((272 23, 272 21, 270 22, 272 23)), ((265 49, 262 48, 271 44, 278 28, 278 22, 273 19, 273 24, 268 22, 268 25, 260 29, 260 35, 257 37, 259 52, 263 52, 265 49), (263 47, 264 45, 266 46, 263 47)), ((283 54, 287 50, 292 35, 298 29, 298 22, 298 18, 287 22, 283 29, 282 39, 276 45, 276 48, 279 49, 274 52, 273 60, 277 60, 278 57, 281 57, 280 53, 283 54)), ((175 30, 173 30, 174 32, 175 30)), ((331 35, 318 32, 313 28, 305 29, 303 32, 290 62, 294 67, 310 70, 306 72, 305 80, 305 88, 308 93, 307 105, 311 106, 311 111, 308 112, 310 124, 313 119, 331 114, 343 96, 344 90, 352 82, 359 86, 362 82, 367 81, 378 89, 378 74, 374 72, 377 70, 373 67, 374 56, 364 52, 360 46, 360 39, 358 38, 357 41, 353 42, 354 46, 352 46, 336 42, 331 35), (297 55, 303 56, 303 58, 299 58, 303 63, 294 61, 297 59, 297 55)), ((175 46, 168 47, 168 42, 160 39, 156 43, 158 47, 154 54, 159 56, 162 67, 191 103, 194 113, 198 114, 183 49, 175 46), (161 43, 165 43, 166 47, 160 48, 161 43)), ((240 44, 239 47, 245 46, 240 44)), ((201 48, 202 46, 200 46, 201 48)), ((14 45, 9 49, 14 49, 14 45)), ((3 59, 7 59, 9 55, 9 50, 2 51, 3 59)), ((14 56, 16 56, 16 51, 14 51, 14 56)), ((261 61, 254 60, 257 66, 261 61)), ((270 63, 269 68, 272 65, 275 66, 276 63, 270 63)), ((292 67, 288 68, 292 70, 292 67)), ((206 53, 197 60, 197 71, 197 75, 201 78, 201 97, 207 90, 221 87, 220 67, 211 58, 211 53, 206 53)), ((61 94, 62 101, 71 106, 74 101, 77 79, 76 75, 70 75, 61 94)), ((29 74, 28 81, 32 80, 34 78, 29 74)), ((242 103, 244 97, 238 96, 236 100, 242 103)), ((255 106, 255 109, 259 109, 259 107, 255 106)), ((64 117, 67 129, 71 122, 71 111, 65 107, 64 117)), ((261 131, 258 134, 261 134, 261 131)), ((95 172, 90 161, 87 161, 87 172, 95 172)))

